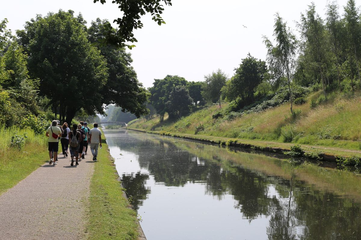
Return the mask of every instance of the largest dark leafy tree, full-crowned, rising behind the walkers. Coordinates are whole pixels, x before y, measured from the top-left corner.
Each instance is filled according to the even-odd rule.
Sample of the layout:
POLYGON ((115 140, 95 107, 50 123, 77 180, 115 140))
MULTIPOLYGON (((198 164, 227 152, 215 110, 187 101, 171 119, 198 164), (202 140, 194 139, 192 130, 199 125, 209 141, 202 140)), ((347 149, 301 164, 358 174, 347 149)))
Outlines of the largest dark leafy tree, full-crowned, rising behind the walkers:
POLYGON ((37 15, 17 31, 19 42, 30 53, 32 77, 40 79, 40 95, 50 103, 60 119, 71 122, 78 110, 89 115, 104 114, 101 90, 108 73, 106 61, 87 39, 81 16, 73 11, 37 15), (65 119, 66 116, 66 119, 65 119))

